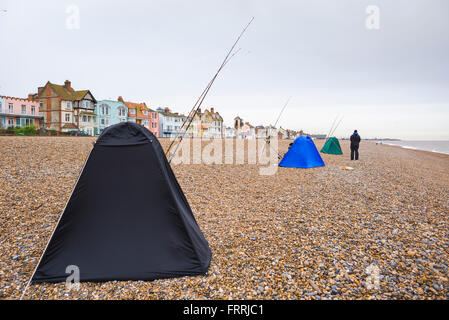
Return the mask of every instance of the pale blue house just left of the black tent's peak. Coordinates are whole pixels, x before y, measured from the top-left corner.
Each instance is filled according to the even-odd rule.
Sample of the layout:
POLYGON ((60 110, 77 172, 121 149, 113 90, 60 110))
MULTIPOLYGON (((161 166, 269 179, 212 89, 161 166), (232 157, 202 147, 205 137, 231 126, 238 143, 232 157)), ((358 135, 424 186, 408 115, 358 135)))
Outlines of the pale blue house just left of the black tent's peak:
POLYGON ((97 115, 96 135, 110 125, 128 121, 128 107, 120 101, 98 101, 95 105, 95 114, 97 115))

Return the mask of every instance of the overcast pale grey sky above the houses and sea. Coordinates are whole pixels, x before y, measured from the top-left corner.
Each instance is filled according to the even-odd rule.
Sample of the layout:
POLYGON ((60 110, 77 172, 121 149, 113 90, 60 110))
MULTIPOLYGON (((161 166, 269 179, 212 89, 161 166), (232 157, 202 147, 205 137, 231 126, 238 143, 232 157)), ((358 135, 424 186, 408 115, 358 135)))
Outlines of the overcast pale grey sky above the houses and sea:
POLYGON ((449 140, 447 0, 0 0, 0 94, 69 79, 188 113, 253 16, 203 104, 226 124, 273 124, 292 96, 282 127, 327 133, 340 114, 339 137, 449 140))

